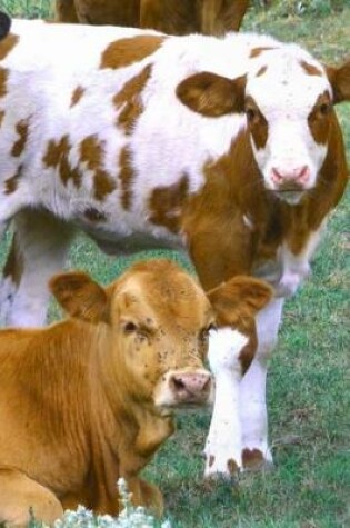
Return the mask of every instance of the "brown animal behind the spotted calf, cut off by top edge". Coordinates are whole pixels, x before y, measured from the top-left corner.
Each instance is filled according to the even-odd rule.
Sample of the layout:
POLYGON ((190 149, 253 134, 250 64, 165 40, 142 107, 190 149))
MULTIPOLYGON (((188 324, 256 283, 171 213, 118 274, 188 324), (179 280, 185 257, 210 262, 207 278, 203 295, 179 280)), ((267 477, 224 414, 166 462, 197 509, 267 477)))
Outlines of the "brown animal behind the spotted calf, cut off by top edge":
POLYGON ((249 0, 56 0, 60 22, 132 26, 170 34, 238 31, 249 0))

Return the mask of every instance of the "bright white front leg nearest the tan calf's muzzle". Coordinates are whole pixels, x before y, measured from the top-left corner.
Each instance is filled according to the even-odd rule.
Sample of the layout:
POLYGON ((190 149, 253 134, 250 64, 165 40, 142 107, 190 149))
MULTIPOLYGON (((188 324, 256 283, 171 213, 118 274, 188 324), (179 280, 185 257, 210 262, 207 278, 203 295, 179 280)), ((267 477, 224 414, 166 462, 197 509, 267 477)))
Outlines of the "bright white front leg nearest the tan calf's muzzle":
POLYGON ((204 448, 207 478, 217 475, 231 478, 241 467, 239 355, 246 343, 247 337, 231 328, 210 333, 209 363, 216 379, 216 397, 204 448))

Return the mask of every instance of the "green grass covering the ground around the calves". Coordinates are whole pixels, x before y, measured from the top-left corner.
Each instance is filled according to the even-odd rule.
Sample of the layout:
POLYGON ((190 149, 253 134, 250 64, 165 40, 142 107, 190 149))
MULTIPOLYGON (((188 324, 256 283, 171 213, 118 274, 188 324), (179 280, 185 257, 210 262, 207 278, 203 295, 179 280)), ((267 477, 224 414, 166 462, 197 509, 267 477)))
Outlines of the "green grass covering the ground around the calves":
MULTIPOLYGON (((268 12, 252 9, 244 29, 301 42, 322 60, 337 62, 350 50, 349 3, 306 1, 309 12, 297 17, 297 2, 286 0, 268 12)), ((43 0, 0 0, 0 8, 26 17, 50 12, 43 0)), ((350 104, 339 108, 339 117, 350 157, 350 104)), ((203 485, 201 450, 210 417, 179 417, 176 435, 147 470, 164 492, 174 528, 350 526, 349 208, 348 193, 329 223, 312 278, 286 307, 268 379, 276 469, 243 474, 239 487, 203 485)), ((9 238, 0 246, 0 265, 8 243, 9 238)), ((166 255, 181 260, 177 253, 166 255)), ((89 269, 107 282, 130 260, 103 257, 80 238, 69 266, 89 269)))

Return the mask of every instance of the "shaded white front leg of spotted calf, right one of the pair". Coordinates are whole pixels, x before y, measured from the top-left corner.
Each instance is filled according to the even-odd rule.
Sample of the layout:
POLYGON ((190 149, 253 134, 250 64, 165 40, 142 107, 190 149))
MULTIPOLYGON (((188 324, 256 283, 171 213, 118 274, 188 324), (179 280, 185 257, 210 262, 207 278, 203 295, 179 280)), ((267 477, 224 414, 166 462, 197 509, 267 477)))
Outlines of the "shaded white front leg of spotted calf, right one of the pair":
POLYGON ((267 363, 277 342, 282 308, 283 299, 273 299, 258 313, 258 350, 240 383, 242 462, 247 469, 258 469, 272 464, 268 446, 267 363))

